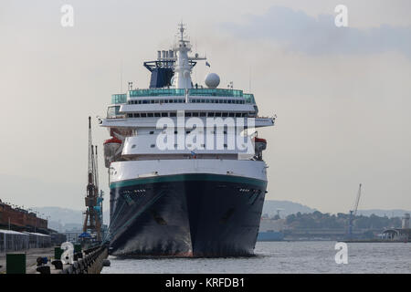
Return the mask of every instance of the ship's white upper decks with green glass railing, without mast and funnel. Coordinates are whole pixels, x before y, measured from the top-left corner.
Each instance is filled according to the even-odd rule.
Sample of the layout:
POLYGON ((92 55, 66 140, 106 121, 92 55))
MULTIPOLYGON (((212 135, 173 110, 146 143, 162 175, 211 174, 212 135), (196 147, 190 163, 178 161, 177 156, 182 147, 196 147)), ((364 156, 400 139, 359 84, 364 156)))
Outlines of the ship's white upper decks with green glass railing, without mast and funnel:
MULTIPOLYGON (((258 118, 253 94, 238 89, 132 89, 113 94, 103 127, 153 127, 160 117, 176 117, 185 110, 185 117, 258 118)), ((273 125, 271 118, 259 118, 257 127, 273 125)))

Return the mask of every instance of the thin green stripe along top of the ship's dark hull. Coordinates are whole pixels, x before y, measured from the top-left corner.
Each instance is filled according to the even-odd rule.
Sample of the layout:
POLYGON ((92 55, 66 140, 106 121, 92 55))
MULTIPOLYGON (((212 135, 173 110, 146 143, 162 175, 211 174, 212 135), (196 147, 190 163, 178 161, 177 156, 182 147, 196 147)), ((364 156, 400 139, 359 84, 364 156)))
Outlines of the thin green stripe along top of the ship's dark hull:
POLYGON ((170 183, 170 182, 184 182, 184 181, 208 181, 208 182, 227 182, 227 183, 249 183, 257 186, 266 187, 267 182, 249 177, 232 176, 224 174, 208 174, 208 173, 188 173, 188 174, 174 174, 154 176, 141 179, 132 179, 121 182, 110 183, 110 188, 119 188, 124 186, 131 186, 136 184, 146 183, 170 183))

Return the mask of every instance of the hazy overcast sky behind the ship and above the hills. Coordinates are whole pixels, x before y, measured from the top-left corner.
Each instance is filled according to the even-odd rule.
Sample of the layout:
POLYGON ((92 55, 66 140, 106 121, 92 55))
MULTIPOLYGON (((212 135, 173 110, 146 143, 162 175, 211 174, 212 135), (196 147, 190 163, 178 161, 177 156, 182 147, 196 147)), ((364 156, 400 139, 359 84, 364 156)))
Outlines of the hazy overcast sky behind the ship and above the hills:
MULTIPOLYGON (((194 81, 216 72, 278 116, 258 131, 267 199, 346 213, 364 183, 360 209, 411 210, 410 11, 408 0, 2 0, 0 198, 84 208, 88 116, 104 116, 128 81, 148 87, 142 62, 171 47, 183 20, 211 64, 194 81), (65 4, 73 27, 60 25, 65 4), (348 27, 334 25, 340 4, 348 27)), ((93 121, 102 153, 109 134, 93 121)))

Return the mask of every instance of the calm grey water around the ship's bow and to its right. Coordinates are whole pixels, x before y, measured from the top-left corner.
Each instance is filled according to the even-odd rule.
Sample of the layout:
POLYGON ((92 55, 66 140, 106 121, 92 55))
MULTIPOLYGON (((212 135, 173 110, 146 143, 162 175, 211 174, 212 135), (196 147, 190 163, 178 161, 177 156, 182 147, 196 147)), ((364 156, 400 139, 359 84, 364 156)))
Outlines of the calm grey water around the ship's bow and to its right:
POLYGON ((347 244, 348 264, 335 263, 336 242, 258 242, 256 256, 136 259, 110 256, 102 274, 140 273, 411 273, 411 243, 347 244))

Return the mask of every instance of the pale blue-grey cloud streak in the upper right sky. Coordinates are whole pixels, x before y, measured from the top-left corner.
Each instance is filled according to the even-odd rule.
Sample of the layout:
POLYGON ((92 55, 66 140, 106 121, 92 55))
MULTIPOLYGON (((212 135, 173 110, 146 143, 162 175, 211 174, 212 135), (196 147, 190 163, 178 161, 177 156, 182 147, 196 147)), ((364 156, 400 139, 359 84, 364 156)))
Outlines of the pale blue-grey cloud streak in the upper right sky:
POLYGON ((246 39, 268 39, 309 55, 373 54, 397 51, 411 57, 411 27, 381 25, 369 29, 337 27, 332 15, 312 17, 288 7, 272 6, 262 16, 248 15, 244 24, 220 27, 246 39))

